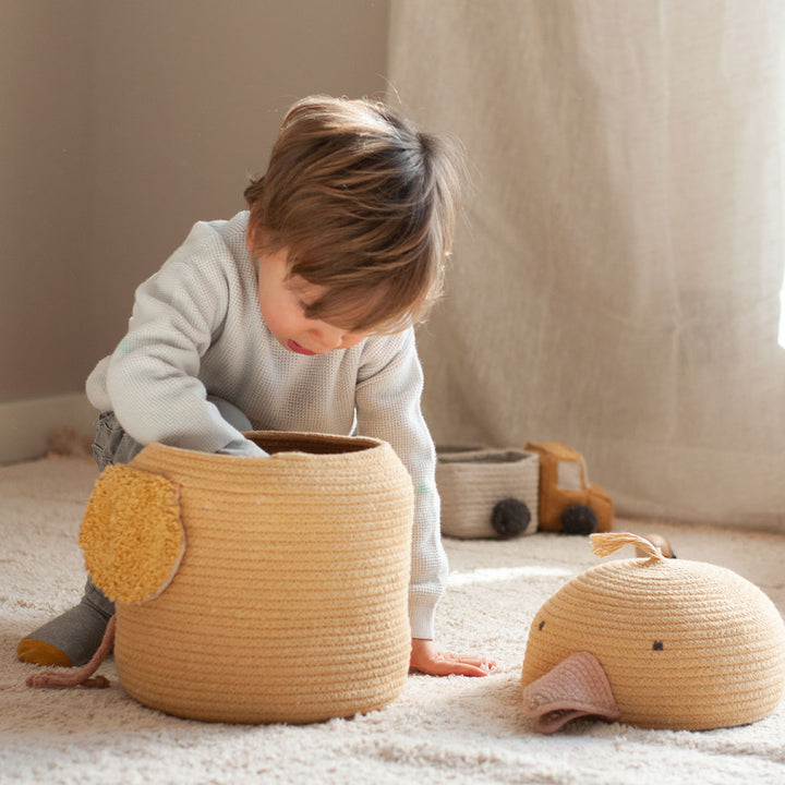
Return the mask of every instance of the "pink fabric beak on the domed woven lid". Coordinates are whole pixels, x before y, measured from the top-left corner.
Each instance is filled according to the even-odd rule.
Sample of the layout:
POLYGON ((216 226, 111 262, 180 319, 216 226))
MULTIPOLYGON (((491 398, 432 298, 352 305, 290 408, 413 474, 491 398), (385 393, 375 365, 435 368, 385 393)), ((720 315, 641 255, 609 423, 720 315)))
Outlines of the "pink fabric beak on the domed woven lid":
POLYGON ((570 654, 523 689, 523 713, 536 717, 540 733, 554 733, 571 720, 621 716, 600 661, 590 652, 570 654))

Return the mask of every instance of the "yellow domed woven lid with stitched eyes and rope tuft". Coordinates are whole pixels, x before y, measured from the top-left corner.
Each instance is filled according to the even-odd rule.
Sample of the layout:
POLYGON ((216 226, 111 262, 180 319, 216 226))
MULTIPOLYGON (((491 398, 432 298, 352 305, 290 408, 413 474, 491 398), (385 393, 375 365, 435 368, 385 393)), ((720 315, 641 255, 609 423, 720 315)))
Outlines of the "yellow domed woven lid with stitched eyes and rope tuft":
POLYGON ((621 722, 701 730, 774 711, 785 692, 785 625, 771 600, 724 567, 665 559, 635 535, 605 536, 611 547, 645 543, 653 557, 592 567, 547 600, 529 632, 523 687, 589 652, 621 722))

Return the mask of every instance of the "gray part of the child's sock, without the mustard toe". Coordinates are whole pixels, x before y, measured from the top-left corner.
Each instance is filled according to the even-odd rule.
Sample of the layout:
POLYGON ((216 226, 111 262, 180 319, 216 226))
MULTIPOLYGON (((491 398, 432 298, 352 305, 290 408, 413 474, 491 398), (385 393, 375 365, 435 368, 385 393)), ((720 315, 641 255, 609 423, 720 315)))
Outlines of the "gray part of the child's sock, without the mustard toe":
POLYGON ((113 614, 114 603, 88 578, 80 604, 31 632, 27 639, 60 649, 77 667, 95 654, 113 614))

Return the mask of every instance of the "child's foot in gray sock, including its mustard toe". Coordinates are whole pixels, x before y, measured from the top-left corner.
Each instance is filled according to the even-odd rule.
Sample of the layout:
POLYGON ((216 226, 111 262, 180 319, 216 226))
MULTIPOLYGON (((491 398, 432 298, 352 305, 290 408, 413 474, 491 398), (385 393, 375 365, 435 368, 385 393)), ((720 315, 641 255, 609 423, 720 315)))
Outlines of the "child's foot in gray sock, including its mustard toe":
POLYGON ((88 580, 80 604, 23 638, 16 656, 48 667, 84 665, 100 645, 113 613, 114 604, 88 580))

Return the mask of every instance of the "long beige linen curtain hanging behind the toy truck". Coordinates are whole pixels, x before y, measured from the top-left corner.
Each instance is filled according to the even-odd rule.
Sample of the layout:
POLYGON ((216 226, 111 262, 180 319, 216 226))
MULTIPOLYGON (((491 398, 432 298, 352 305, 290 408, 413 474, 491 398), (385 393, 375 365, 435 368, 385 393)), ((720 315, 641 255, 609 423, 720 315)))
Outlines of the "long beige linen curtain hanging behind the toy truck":
POLYGON ((390 90, 474 180, 419 338, 437 442, 785 530, 784 52, 778 0, 392 0, 390 90))

